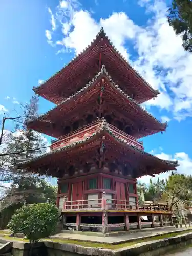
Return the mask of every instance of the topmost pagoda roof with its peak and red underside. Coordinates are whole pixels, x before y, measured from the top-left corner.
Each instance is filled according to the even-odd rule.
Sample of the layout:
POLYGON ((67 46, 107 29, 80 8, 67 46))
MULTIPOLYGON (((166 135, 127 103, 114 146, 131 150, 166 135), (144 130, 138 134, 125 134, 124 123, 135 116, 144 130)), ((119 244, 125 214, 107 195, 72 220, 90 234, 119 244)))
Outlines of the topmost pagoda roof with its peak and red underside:
POLYGON ((103 28, 90 46, 43 84, 34 87, 34 92, 55 104, 62 102, 89 80, 87 76, 93 77, 99 71, 101 67, 99 68, 100 65, 98 66, 97 63, 100 54, 102 64, 105 64, 120 86, 125 87, 124 91, 127 94, 134 95, 138 103, 157 97, 159 91, 153 89, 122 57, 106 36, 103 28))

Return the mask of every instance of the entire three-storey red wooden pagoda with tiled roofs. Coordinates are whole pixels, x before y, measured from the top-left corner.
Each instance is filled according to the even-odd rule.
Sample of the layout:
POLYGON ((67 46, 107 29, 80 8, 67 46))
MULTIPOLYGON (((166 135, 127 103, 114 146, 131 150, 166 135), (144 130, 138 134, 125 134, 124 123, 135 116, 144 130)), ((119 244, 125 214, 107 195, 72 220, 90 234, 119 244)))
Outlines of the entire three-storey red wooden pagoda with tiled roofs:
POLYGON ((49 153, 17 166, 58 178, 63 228, 106 233, 172 220, 168 205, 139 204, 136 188, 137 178, 178 166, 146 153, 138 141, 167 127, 140 106, 159 92, 123 59, 103 28, 86 50, 33 90, 57 105, 28 127, 56 140, 49 153))

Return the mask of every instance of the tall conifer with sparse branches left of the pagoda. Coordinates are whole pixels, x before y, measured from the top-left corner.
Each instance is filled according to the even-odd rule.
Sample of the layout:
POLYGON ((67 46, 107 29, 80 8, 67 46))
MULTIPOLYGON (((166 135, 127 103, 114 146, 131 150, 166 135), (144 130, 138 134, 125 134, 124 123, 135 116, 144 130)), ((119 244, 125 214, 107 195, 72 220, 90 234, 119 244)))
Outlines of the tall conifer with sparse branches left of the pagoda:
MULTIPOLYGON (((24 116, 25 119, 22 123, 16 124, 15 130, 11 134, 10 143, 6 148, 7 152, 19 152, 24 149, 31 150, 47 146, 46 140, 39 133, 27 129, 27 123, 38 116, 38 97, 32 97, 30 102, 23 106, 23 113, 21 116, 24 116)), ((35 151, 23 152, 18 155, 9 155, 9 168, 11 170, 9 178, 13 184, 9 196, 6 198, 9 202, 27 200, 31 193, 34 196, 37 193, 35 184, 39 182, 37 176, 27 173, 26 170, 20 170, 14 167, 15 160, 36 157, 45 151, 46 148, 41 148, 35 151), (29 184, 31 184, 30 188, 29 184), (34 191, 32 187, 34 187, 34 191)))

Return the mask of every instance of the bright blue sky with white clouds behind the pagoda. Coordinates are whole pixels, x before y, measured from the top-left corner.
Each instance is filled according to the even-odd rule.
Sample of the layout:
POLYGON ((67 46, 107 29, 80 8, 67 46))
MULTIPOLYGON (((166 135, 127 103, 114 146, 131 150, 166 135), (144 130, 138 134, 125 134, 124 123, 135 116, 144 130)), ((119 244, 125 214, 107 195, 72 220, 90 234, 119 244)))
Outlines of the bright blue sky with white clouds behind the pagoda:
MULTIPOLYGON (((115 47, 162 93, 144 104, 168 121, 166 132, 144 138, 148 152, 178 159, 179 172, 192 169, 192 55, 184 52, 166 20, 170 1, 2 1, 0 4, 0 117, 15 115, 33 86, 65 66, 104 26, 115 47)), ((40 99, 40 113, 53 106, 40 99)), ((7 123, 6 129, 13 129, 7 123)), ((161 177, 165 177, 163 174, 161 177)))

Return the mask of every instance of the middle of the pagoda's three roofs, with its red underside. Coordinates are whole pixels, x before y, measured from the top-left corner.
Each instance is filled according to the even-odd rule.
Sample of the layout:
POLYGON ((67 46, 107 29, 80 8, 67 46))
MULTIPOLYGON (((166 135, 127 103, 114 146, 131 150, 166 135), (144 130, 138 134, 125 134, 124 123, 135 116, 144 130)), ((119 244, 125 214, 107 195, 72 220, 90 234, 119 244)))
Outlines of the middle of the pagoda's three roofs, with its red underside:
MULTIPOLYGON (((90 108, 90 105, 94 105, 95 97, 98 98, 100 95, 101 86, 99 82, 102 78, 104 78, 108 84, 108 86, 105 85, 104 87, 103 95, 105 100, 109 101, 111 108, 117 108, 119 113, 124 114, 131 123, 136 122, 136 118, 139 118, 139 122, 142 123, 143 127, 145 127, 144 130, 137 130, 134 134, 130 135, 135 138, 141 138, 166 129, 167 123, 161 123, 158 121, 144 108, 142 108, 142 106, 140 106, 131 96, 127 95, 113 81, 108 72, 106 72, 104 65, 101 72, 99 72, 86 86, 71 95, 69 98, 63 100, 60 104, 44 115, 39 116, 38 119, 30 122, 28 127, 49 136, 59 138, 63 135, 63 130, 56 129, 54 124, 57 122, 60 123, 61 120, 67 122, 67 119, 72 119, 73 114, 77 112, 79 113, 80 109, 83 110, 85 108, 90 108)), ((83 114, 82 111, 81 114, 83 114)))

